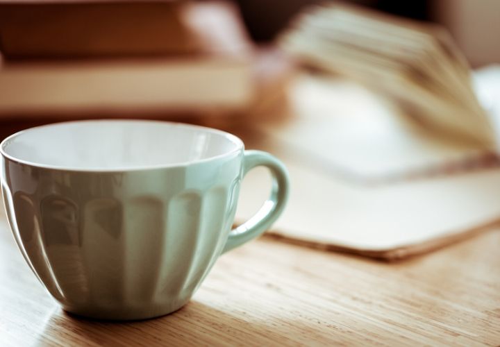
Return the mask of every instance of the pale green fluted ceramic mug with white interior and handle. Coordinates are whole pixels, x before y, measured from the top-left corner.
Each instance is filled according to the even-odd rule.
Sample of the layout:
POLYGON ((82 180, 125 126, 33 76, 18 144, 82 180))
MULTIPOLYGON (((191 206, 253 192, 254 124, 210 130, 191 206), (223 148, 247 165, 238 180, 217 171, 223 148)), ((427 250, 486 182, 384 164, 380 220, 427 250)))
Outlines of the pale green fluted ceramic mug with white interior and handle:
POLYGON ((10 228, 64 310, 146 319, 178 310, 221 253, 260 235, 283 211, 281 162, 220 130, 162 121, 73 121, 0 145, 10 228), (240 183, 256 166, 269 199, 231 230, 240 183))

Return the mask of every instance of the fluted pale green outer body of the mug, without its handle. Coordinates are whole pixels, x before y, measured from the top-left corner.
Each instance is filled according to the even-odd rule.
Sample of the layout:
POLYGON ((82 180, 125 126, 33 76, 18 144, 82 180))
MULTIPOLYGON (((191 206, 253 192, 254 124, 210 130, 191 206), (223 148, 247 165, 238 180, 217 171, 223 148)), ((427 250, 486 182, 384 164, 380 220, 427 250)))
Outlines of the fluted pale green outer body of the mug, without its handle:
MULTIPOLYGON (((111 164, 102 169, 99 160, 94 160, 96 167, 88 166, 92 159, 81 166, 78 158, 67 160, 66 167, 51 160, 33 164, 23 146, 36 142, 7 140, 2 147, 3 199, 26 262, 69 312, 144 319, 177 310, 228 247, 245 171, 242 144, 237 138, 228 141, 232 143, 221 153, 195 153, 195 159, 174 164, 143 165, 139 160, 135 166, 111 164), (21 149, 10 153, 10 146, 21 149)), ((62 153, 86 155, 73 152, 62 153)), ((101 155, 103 160, 106 155, 101 155)), ((234 237, 245 231, 233 231, 234 237)))

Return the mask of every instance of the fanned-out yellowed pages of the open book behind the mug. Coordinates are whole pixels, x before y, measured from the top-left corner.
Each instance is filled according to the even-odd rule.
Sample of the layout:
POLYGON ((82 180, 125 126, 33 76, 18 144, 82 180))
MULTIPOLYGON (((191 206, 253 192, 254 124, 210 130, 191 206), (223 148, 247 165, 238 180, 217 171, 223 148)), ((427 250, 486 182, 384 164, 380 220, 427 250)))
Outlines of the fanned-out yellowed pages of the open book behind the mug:
POLYGON ((362 83, 435 133, 495 146, 467 62, 440 26, 329 3, 304 12, 280 42, 304 65, 362 83))

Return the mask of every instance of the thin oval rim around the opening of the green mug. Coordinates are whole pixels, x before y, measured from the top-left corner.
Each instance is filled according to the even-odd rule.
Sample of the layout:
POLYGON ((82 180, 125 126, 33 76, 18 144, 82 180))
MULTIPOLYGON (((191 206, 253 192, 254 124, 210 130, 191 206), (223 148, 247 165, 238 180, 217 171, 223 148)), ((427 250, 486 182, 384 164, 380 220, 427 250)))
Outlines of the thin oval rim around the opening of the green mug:
POLYGON ((237 153, 238 151, 244 150, 244 143, 240 137, 233 135, 231 133, 228 133, 224 130, 219 130, 215 128, 210 128, 208 126, 199 126, 195 124, 186 124, 186 123, 181 123, 181 122, 176 122, 176 121, 161 121, 161 120, 154 120, 154 119, 82 119, 82 120, 75 120, 75 121, 60 121, 56 123, 51 123, 51 124, 44 124, 41 126, 33 126, 31 128, 27 128, 24 130, 19 130, 17 133, 13 133, 12 135, 9 135, 5 139, 3 139, 2 142, 0 142, 0 154, 3 158, 6 158, 7 160, 10 160, 12 162, 17 162, 18 164, 24 164, 29 167, 36 167, 40 169, 49 169, 53 171, 72 171, 72 172, 82 172, 82 173, 115 173, 115 172, 129 172, 129 171, 149 171, 153 169, 170 169, 170 168, 176 168, 176 167, 189 167, 193 164, 200 164, 204 162, 212 162, 216 161, 222 158, 230 157, 234 153, 237 153), (64 124, 75 124, 75 123, 90 123, 90 122, 106 122, 106 123, 114 123, 114 122, 127 122, 127 123, 158 123, 158 124, 168 124, 170 126, 178 126, 181 128, 190 128, 190 129, 195 129, 195 130, 202 130, 203 132, 206 133, 213 133, 217 135, 222 135, 222 137, 226 138, 228 141, 233 142, 235 144, 235 148, 232 149, 231 151, 227 151, 226 153, 222 153, 219 155, 214 155, 209 158, 203 158, 203 159, 197 159, 197 160, 186 160, 183 162, 172 162, 172 163, 165 163, 165 164, 150 164, 150 165, 142 165, 138 167, 71 167, 71 166, 63 166, 63 165, 51 165, 51 164, 42 164, 40 162, 33 162, 31 160, 24 160, 20 158, 15 158, 14 156, 6 153, 5 148, 8 145, 9 142, 12 141, 15 137, 18 137, 19 135, 22 135, 24 133, 28 133, 31 130, 34 129, 40 129, 40 128, 47 128, 51 126, 58 126, 58 125, 64 125, 64 124))

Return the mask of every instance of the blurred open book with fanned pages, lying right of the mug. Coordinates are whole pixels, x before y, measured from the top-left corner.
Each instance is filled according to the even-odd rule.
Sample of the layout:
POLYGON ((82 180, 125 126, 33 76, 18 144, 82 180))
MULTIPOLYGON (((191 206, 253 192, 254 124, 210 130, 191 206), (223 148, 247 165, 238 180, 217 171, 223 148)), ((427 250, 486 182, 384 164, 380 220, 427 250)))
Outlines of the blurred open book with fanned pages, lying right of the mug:
MULTIPOLYGON (((301 15, 281 45, 322 74, 299 74, 290 115, 242 135, 290 170, 289 205, 271 234, 395 260, 499 225, 500 108, 481 107, 442 29, 328 5, 301 15)), ((500 100, 483 93, 499 90, 494 75, 476 75, 483 102, 500 100)), ((239 221, 266 182, 265 170, 244 180, 239 221)))

